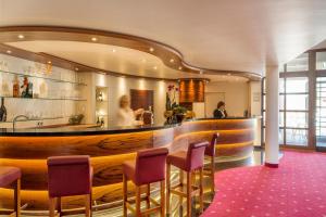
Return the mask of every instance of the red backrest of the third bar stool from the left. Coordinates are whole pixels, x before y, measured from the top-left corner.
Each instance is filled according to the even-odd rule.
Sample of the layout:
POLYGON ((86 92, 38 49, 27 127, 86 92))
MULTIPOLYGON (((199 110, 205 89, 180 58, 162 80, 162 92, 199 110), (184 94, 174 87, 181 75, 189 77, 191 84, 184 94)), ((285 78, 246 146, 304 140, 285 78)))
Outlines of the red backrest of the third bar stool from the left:
POLYGON ((164 180, 167 154, 168 150, 166 148, 139 151, 136 157, 136 183, 142 184, 164 180))

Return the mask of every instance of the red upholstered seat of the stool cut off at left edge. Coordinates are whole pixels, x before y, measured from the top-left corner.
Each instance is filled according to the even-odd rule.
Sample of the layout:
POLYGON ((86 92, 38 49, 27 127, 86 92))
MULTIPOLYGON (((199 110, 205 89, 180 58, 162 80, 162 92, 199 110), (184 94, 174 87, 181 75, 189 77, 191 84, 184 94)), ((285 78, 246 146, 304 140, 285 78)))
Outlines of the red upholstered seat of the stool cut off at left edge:
POLYGON ((20 168, 12 166, 0 166, 0 188, 8 187, 22 177, 20 168))

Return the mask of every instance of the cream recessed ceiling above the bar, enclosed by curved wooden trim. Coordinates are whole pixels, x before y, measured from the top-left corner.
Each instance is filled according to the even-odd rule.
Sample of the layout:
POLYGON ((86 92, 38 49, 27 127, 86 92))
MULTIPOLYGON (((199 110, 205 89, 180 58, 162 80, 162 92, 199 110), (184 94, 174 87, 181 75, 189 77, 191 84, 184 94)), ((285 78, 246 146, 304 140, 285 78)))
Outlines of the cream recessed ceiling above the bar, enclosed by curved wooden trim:
POLYGON ((134 49, 92 42, 20 41, 9 46, 32 52, 45 52, 103 71, 155 78, 208 78, 212 81, 247 81, 247 78, 222 75, 199 75, 170 68, 155 55, 134 49))

